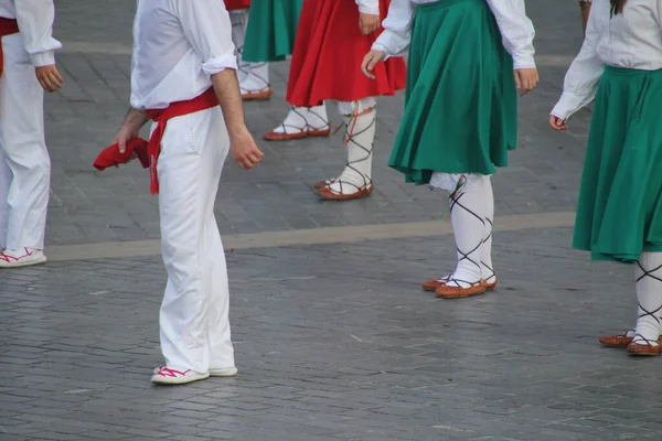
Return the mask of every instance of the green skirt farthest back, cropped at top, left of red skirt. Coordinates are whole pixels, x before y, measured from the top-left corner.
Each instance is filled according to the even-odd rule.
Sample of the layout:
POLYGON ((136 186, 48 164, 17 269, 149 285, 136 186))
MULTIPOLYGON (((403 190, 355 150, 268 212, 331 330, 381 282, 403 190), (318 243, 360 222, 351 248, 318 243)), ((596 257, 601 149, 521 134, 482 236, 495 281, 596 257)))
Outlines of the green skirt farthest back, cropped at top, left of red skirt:
POLYGON ((292 53, 303 0, 254 0, 248 15, 243 58, 280 62, 292 53))

